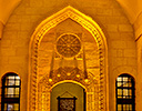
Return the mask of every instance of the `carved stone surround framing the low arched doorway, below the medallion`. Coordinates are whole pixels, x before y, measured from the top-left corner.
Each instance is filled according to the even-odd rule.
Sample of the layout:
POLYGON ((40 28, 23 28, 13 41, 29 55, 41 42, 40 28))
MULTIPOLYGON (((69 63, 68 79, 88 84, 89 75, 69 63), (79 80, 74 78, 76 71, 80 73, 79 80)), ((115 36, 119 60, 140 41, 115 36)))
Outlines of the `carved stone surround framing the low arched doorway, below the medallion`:
POLYGON ((38 111, 50 111, 50 92, 54 85, 63 82, 82 85, 87 92, 87 111, 99 110, 99 80, 95 80, 92 74, 89 74, 88 82, 85 82, 83 72, 78 68, 61 68, 54 71, 52 77, 52 81, 49 81, 47 74, 38 83, 38 111), (59 73, 61 77, 58 77, 59 73))

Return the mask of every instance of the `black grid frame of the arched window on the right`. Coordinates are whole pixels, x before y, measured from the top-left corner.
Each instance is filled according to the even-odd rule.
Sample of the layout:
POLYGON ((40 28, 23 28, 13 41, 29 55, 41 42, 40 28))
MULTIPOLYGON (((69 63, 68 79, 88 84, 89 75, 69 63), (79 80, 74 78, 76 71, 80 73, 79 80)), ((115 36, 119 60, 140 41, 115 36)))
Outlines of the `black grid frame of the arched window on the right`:
POLYGON ((115 80, 115 97, 116 97, 116 111, 135 111, 135 82, 134 78, 128 73, 123 73, 119 75, 115 80), (118 81, 118 78, 121 79, 121 81, 118 81), (124 78, 128 78, 128 81, 124 81, 124 78), (130 80, 129 80, 130 79, 130 80), (122 83, 122 85, 118 87, 119 83, 122 83), (128 84, 126 84, 128 83, 128 84), (125 87, 123 87, 125 85, 125 87), (122 95, 119 95, 118 90, 122 90, 122 95), (129 95, 124 95, 123 91, 126 90, 129 95), (130 92, 131 94, 130 94, 130 92), (121 105, 121 110, 118 110, 118 104, 121 105), (126 107, 129 107, 129 110, 124 110, 126 107), (132 110, 130 110, 130 107, 132 105, 132 110))

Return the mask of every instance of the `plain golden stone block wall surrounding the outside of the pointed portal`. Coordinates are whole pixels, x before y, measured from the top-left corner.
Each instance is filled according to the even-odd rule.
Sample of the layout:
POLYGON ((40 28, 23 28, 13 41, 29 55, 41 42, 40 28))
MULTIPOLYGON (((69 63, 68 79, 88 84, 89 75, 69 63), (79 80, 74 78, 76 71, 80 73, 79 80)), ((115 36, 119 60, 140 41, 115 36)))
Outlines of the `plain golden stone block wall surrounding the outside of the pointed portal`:
POLYGON ((109 110, 115 111, 115 78, 121 73, 129 73, 136 81, 138 73, 133 29, 115 0, 22 0, 9 18, 0 40, 0 77, 7 72, 20 75, 20 110, 26 111, 27 100, 30 98, 28 97, 28 74, 31 36, 42 20, 67 6, 91 17, 100 24, 106 37, 108 102, 109 110))

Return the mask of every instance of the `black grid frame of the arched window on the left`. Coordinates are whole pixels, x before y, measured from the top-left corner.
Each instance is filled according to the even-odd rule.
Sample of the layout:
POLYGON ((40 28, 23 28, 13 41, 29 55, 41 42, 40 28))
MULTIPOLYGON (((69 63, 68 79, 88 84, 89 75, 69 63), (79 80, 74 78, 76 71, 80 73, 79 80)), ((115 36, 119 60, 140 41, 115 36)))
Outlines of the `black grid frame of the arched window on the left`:
POLYGON ((18 104, 18 110, 13 110, 13 111, 20 111, 20 91, 21 91, 21 79, 19 77, 19 79, 16 77, 19 77, 18 74, 10 72, 3 75, 2 78, 2 94, 1 94, 1 111, 8 111, 8 104, 18 104), (8 77, 14 77, 14 79, 8 79, 8 77), (14 81, 14 85, 9 85, 6 84, 6 81, 8 83, 10 83, 9 80, 13 80, 14 81), (16 85, 16 81, 19 82, 18 85, 16 85), (13 94, 6 94, 6 89, 8 88, 12 88, 12 90, 14 91, 13 94), (19 94, 16 94, 16 88, 19 89, 19 94), (4 104, 7 104, 7 110, 4 109, 4 104))

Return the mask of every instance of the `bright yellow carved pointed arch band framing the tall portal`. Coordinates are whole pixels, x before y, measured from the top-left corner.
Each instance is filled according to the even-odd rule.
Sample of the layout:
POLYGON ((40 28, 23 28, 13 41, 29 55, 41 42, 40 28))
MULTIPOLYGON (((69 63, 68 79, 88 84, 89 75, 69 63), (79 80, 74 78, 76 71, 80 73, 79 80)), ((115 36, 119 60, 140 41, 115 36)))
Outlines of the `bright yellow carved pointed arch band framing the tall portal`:
MULTIPOLYGON (((99 109, 105 111, 109 103, 109 90, 108 90, 108 47, 105 37, 97 22, 94 22, 90 17, 81 13, 72 7, 67 7, 55 14, 43 20, 36 29, 31 37, 30 42, 30 52, 29 52, 29 102, 28 110, 33 111, 37 109, 37 97, 38 97, 38 83, 37 83, 37 73, 38 73, 38 49, 39 43, 42 40, 43 36, 52 28, 58 26, 60 22, 72 19, 78 22, 84 29, 87 29, 94 38, 99 48, 100 57, 100 91, 99 91, 99 109), (108 97, 108 98, 106 98, 108 97)), ((90 111, 90 110, 87 110, 90 111)))

